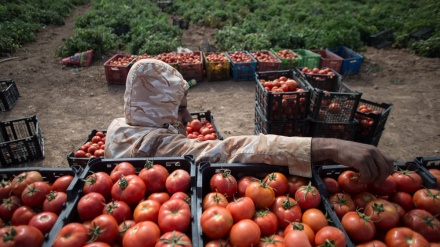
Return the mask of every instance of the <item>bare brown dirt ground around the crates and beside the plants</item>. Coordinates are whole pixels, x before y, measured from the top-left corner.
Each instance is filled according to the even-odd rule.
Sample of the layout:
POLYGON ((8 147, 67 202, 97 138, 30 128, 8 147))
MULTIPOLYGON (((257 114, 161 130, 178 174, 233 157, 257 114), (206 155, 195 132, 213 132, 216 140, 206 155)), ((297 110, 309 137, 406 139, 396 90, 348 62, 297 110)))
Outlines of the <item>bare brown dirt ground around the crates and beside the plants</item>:
MULTIPOLYGON (((67 167, 67 154, 77 150, 89 133, 106 130, 123 116, 124 86, 108 84, 104 62, 74 69, 61 65, 55 49, 73 33, 78 7, 64 26, 41 30, 35 43, 22 47, 14 59, 0 63, 0 79, 15 80, 21 97, 0 121, 37 115, 44 137, 44 159, 20 166, 67 167)), ((194 51, 203 40, 213 42, 215 30, 190 26, 185 47, 194 51)), ((362 98, 394 105, 379 148, 396 161, 440 156, 440 59, 405 50, 368 47, 358 75, 344 77, 362 98)), ((0 60, 3 60, 0 58, 0 60)), ((224 137, 254 133, 254 81, 199 82, 190 89, 191 112, 211 110, 224 137)))

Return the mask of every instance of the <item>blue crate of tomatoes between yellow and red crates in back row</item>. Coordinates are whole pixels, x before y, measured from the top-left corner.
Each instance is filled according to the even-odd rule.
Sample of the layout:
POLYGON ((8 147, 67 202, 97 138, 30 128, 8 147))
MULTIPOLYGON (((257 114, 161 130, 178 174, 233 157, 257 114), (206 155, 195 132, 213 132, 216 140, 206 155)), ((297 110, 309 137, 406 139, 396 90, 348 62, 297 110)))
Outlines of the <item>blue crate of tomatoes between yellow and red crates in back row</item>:
POLYGON ((257 71, 257 60, 247 51, 226 52, 231 64, 231 74, 234 81, 252 81, 257 71))

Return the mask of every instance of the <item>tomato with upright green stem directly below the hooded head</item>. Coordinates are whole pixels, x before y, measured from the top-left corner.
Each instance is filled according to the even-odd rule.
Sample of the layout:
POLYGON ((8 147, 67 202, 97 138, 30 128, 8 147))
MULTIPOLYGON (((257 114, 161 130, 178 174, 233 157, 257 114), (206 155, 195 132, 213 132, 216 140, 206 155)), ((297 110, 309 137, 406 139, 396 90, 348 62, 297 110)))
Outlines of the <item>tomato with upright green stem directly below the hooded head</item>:
POLYGON ((147 187, 146 193, 150 194, 165 191, 165 182, 169 175, 168 170, 163 165, 147 161, 138 176, 147 187))

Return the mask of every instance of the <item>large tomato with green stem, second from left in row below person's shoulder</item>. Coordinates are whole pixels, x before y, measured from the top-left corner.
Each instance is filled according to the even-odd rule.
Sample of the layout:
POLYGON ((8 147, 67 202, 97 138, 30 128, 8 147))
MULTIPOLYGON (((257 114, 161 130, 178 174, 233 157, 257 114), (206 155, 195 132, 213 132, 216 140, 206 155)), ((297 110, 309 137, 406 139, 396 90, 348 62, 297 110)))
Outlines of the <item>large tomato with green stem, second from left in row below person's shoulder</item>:
POLYGON ((145 183, 142 179, 135 175, 122 176, 111 188, 112 198, 124 201, 129 205, 133 205, 142 200, 145 196, 145 183))

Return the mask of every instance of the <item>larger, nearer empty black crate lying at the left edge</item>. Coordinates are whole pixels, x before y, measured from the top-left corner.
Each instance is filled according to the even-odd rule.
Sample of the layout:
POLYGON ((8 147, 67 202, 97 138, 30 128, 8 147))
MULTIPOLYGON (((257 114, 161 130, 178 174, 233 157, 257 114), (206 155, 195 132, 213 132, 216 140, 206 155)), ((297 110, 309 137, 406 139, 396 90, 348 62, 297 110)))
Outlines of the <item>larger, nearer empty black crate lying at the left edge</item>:
POLYGON ((37 116, 0 122, 1 168, 44 158, 37 116))

